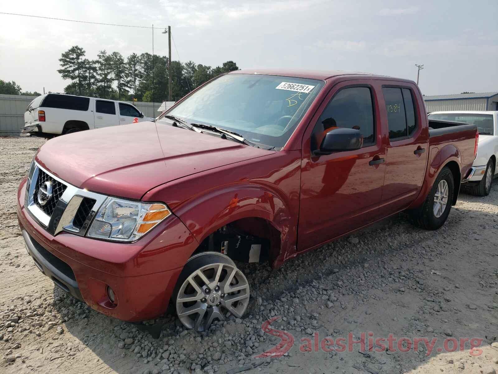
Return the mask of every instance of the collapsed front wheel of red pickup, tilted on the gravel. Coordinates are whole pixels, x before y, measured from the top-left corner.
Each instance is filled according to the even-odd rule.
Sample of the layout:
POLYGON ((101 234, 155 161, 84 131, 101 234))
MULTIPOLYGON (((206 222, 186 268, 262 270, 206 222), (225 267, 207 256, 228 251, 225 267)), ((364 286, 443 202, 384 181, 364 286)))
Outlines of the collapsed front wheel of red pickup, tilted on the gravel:
POLYGON ((201 252, 183 267, 173 302, 188 329, 207 331, 213 321, 230 312, 241 318, 249 304, 249 283, 232 259, 219 252, 201 252))

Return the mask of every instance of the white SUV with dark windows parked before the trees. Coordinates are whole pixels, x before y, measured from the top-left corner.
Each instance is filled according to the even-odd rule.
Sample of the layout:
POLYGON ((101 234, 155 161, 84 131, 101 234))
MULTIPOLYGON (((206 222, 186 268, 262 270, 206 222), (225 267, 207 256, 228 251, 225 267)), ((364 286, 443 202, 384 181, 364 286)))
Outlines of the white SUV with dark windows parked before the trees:
POLYGON ((45 138, 107 126, 153 121, 123 101, 49 93, 31 101, 21 135, 45 138))

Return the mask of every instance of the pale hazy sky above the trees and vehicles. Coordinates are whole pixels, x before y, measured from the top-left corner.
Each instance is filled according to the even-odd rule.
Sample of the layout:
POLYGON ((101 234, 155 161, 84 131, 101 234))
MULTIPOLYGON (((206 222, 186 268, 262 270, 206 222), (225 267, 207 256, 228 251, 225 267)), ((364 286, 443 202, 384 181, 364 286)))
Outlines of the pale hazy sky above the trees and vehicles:
MULTIPOLYGON (((498 91, 496 0, 2 1, 0 12, 157 27, 154 52, 240 68, 370 72, 416 81, 425 95, 498 91), (176 48, 175 48, 176 45, 176 48)), ((125 57, 152 52, 152 30, 0 14, 0 79, 63 92, 73 45, 125 57)))

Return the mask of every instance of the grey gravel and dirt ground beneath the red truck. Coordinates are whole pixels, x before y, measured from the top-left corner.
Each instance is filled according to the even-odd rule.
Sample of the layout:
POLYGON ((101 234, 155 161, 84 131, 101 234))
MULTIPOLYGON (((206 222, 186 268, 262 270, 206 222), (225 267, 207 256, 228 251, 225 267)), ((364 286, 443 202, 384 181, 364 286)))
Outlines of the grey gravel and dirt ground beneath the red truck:
POLYGON ((105 317, 67 296, 27 255, 15 193, 43 142, 0 138, 0 213, 6 217, 0 223, 0 372, 498 371, 498 183, 484 198, 462 194, 438 231, 415 228, 399 214, 276 271, 241 264, 253 296, 244 319, 197 333, 165 315, 144 324, 162 324, 155 340, 143 325, 105 317), (261 330, 278 316, 271 327, 291 334, 293 346, 283 356, 256 358, 280 342, 261 330), (372 349, 369 332, 377 344, 372 349), (367 347, 353 344, 346 352, 324 352, 314 344, 328 337, 338 348, 341 337, 358 341, 362 333, 367 347), (386 351, 380 346, 386 341, 375 339, 389 334, 398 341, 426 338, 429 348, 420 343, 415 349, 405 340, 386 351), (445 350, 445 339, 463 342, 462 350, 448 352, 453 344, 445 350), (470 342, 480 347, 471 351, 470 342))

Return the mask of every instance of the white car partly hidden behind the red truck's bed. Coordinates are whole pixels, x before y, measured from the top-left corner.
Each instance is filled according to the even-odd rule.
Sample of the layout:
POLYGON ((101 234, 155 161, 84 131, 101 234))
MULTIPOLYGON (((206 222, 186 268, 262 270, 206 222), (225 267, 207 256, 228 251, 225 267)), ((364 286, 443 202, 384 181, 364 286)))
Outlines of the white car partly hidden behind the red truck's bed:
POLYGON ((465 122, 477 125, 479 143, 477 157, 467 176, 465 190, 474 195, 490 193, 493 178, 498 174, 498 111, 440 111, 429 114, 431 120, 465 122))

